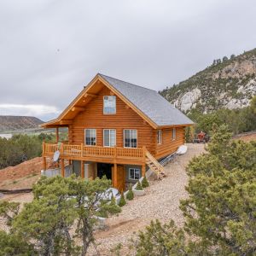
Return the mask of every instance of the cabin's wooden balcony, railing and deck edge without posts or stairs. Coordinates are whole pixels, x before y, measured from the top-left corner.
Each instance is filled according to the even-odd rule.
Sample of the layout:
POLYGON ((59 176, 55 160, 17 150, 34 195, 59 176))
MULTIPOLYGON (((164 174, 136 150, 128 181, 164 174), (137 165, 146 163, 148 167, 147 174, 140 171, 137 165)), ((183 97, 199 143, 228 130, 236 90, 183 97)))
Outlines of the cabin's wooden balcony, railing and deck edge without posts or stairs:
POLYGON ((146 148, 109 148, 84 146, 84 144, 43 143, 44 157, 52 157, 56 150, 60 150, 61 159, 118 164, 143 164, 145 163, 146 154, 146 148))

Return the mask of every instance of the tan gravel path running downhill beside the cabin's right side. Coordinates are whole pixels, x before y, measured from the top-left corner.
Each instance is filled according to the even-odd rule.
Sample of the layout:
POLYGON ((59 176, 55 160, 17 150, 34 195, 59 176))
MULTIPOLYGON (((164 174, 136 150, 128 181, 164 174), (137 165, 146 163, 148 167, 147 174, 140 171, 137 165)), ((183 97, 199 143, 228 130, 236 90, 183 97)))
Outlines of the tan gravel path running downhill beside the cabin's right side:
MULTIPOLYGON (((109 249, 119 242, 127 245, 132 234, 142 230, 152 219, 168 222, 172 218, 177 226, 183 225, 179 201, 187 196, 184 189, 188 182, 185 166, 195 155, 204 152, 203 144, 188 144, 188 147, 186 154, 178 156, 165 167, 166 177, 150 182, 146 195, 129 201, 119 216, 108 218, 108 229, 96 233, 97 249, 101 255, 109 255, 109 249)), ((90 251, 90 255, 95 253, 93 249, 90 251)))

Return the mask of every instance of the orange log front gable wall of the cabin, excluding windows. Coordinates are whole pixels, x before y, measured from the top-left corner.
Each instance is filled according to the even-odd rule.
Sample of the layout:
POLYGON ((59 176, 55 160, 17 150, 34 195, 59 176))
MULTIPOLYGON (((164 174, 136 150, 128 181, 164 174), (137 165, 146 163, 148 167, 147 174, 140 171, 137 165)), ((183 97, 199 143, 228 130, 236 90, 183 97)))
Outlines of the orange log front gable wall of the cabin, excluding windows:
POLYGON ((126 108, 125 102, 116 98, 116 113, 103 114, 103 96, 109 96, 107 87, 98 93, 80 112, 69 125, 69 142, 73 144, 84 143, 84 129, 96 129, 96 146, 103 146, 103 129, 116 130, 116 146, 124 147, 124 129, 137 130, 137 148, 146 146, 154 154, 155 144, 151 138, 154 129, 131 108, 126 108))

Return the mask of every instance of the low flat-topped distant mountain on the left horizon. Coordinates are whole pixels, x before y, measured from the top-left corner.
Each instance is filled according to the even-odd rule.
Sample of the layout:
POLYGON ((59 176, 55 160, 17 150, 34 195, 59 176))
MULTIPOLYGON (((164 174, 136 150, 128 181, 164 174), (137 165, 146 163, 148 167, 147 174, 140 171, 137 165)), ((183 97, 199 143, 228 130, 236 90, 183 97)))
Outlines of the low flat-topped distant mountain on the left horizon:
POLYGON ((42 123, 42 120, 32 116, 0 115, 0 132, 38 128, 42 123))

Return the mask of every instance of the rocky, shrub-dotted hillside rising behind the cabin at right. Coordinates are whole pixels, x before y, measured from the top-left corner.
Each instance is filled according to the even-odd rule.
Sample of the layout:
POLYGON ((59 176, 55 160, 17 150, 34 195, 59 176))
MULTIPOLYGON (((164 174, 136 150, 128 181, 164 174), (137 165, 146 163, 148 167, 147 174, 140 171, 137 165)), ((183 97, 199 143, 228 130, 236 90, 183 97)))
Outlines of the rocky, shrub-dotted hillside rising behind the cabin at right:
POLYGON ((256 49, 214 60, 210 67, 160 94, 183 112, 247 107, 256 95, 256 49))

